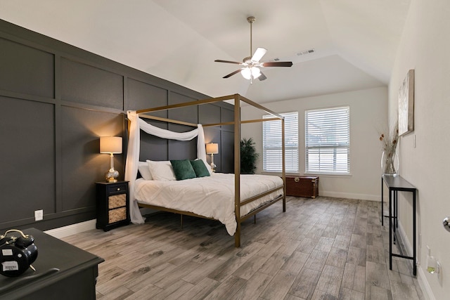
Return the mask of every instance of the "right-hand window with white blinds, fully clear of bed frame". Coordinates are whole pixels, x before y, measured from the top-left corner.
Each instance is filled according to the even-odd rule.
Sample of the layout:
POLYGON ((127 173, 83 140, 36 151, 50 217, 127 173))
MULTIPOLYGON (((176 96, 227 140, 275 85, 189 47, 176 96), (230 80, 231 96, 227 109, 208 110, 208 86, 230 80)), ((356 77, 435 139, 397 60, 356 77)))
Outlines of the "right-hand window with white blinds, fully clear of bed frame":
POLYGON ((307 173, 349 174, 349 111, 345 106, 305 112, 307 173))

